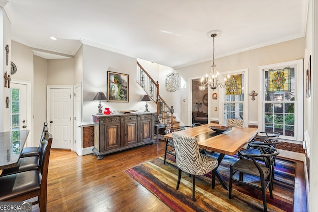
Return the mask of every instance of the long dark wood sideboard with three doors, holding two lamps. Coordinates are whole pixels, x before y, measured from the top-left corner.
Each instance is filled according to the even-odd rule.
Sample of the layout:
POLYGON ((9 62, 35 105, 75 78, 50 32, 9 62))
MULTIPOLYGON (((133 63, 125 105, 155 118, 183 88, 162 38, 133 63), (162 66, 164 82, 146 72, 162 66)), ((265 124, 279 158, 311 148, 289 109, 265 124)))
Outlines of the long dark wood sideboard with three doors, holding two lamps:
POLYGON ((93 115, 94 148, 97 159, 104 155, 145 144, 155 144, 156 113, 93 115))

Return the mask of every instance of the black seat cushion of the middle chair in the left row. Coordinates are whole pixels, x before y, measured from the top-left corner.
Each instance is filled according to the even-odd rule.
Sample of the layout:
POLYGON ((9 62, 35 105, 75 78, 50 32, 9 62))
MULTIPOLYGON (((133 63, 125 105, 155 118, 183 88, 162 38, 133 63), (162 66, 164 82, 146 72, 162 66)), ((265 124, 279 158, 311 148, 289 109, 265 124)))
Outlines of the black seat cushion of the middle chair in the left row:
POLYGON ((39 157, 23 157, 19 159, 17 166, 3 169, 1 176, 15 174, 24 171, 37 170, 39 167, 39 157))

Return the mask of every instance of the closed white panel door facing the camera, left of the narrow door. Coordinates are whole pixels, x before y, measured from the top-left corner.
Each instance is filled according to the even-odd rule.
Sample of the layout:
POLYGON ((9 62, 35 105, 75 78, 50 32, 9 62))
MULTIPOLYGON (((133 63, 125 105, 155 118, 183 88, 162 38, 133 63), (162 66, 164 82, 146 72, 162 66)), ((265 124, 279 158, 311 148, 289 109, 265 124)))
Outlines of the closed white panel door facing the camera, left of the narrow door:
POLYGON ((47 86, 47 120, 52 148, 73 150, 73 86, 47 86))

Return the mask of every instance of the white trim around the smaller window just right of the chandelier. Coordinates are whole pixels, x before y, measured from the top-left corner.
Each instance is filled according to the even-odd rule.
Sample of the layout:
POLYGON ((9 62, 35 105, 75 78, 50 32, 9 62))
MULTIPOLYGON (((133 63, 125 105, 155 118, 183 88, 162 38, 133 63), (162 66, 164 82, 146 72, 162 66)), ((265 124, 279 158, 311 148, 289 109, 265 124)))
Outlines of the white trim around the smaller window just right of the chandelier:
MULTIPOLYGON (((244 68, 244 69, 239 69, 239 70, 234 70, 234 71, 227 71, 227 72, 222 72, 222 77, 226 75, 236 75, 236 74, 244 74, 244 101, 243 101, 243 117, 244 117, 244 124, 243 127, 248 127, 249 125, 249 119, 248 119, 248 84, 249 84, 249 76, 248 76, 249 68, 244 68)), ((226 125, 223 120, 223 114, 224 114, 224 95, 225 95, 225 88, 221 89, 220 91, 220 101, 219 101, 219 124, 226 125)))

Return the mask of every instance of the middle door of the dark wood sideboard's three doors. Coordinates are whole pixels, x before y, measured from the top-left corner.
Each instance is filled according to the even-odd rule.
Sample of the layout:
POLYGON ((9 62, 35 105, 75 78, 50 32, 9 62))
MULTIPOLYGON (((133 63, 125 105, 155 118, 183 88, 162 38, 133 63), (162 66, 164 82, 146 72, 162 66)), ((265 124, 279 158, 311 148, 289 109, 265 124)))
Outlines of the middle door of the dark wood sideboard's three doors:
POLYGON ((123 117, 123 131, 122 131, 122 143, 121 147, 131 146, 137 144, 138 128, 137 128, 137 116, 124 116, 123 117))

